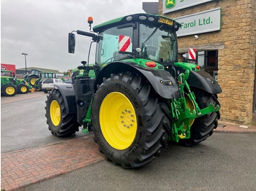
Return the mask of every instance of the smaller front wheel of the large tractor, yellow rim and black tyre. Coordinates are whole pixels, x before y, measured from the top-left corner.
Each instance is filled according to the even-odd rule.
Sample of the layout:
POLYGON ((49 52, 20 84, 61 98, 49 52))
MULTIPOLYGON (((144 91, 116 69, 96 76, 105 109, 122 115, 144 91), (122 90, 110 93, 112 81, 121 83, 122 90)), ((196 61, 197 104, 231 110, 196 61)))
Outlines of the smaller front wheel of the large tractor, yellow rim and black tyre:
POLYGON ((80 126, 76 114, 68 114, 59 90, 50 91, 45 101, 48 128, 54 136, 71 136, 80 126))

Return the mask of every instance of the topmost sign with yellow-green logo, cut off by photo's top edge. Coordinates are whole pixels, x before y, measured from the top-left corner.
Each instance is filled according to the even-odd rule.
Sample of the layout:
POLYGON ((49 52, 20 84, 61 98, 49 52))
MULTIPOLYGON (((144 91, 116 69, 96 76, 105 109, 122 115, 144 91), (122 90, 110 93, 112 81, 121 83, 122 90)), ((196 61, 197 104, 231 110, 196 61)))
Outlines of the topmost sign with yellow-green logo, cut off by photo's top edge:
POLYGON ((208 1, 214 0, 163 0, 162 2, 162 13, 173 12, 178 9, 184 9, 192 7, 197 4, 203 4, 208 1))

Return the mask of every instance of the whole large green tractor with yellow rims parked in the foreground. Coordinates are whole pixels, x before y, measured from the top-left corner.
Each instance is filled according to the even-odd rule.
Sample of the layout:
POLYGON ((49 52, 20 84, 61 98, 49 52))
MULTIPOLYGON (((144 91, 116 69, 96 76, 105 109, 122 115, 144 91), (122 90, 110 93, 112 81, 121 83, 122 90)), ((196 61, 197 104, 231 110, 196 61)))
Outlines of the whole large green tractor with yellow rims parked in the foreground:
POLYGON ((49 93, 45 116, 51 133, 70 136, 83 125, 84 133, 94 132, 106 159, 123 168, 146 165, 168 141, 189 146, 211 136, 222 90, 199 66, 178 62, 180 26, 142 13, 102 23, 94 33, 76 31, 97 44, 96 61, 83 61, 72 85, 56 85, 49 93))

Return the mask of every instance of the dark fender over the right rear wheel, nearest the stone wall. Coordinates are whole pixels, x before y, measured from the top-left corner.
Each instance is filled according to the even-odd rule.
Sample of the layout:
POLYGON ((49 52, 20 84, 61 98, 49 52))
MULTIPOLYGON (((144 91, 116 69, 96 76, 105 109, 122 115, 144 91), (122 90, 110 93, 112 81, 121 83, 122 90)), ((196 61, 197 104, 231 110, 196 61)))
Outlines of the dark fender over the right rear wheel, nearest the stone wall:
POLYGON ((190 87, 197 87, 211 94, 222 93, 217 81, 206 71, 189 71, 187 82, 190 87))

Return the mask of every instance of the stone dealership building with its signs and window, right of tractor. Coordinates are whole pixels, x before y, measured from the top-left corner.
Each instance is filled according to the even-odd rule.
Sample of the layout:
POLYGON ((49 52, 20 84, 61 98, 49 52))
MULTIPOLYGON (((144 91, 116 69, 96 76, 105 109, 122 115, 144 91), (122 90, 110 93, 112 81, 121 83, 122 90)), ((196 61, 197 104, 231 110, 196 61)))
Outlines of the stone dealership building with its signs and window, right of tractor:
POLYGON ((221 120, 252 122, 255 112, 256 1, 159 0, 159 14, 181 23, 180 59, 197 50, 197 64, 222 87, 221 120))

